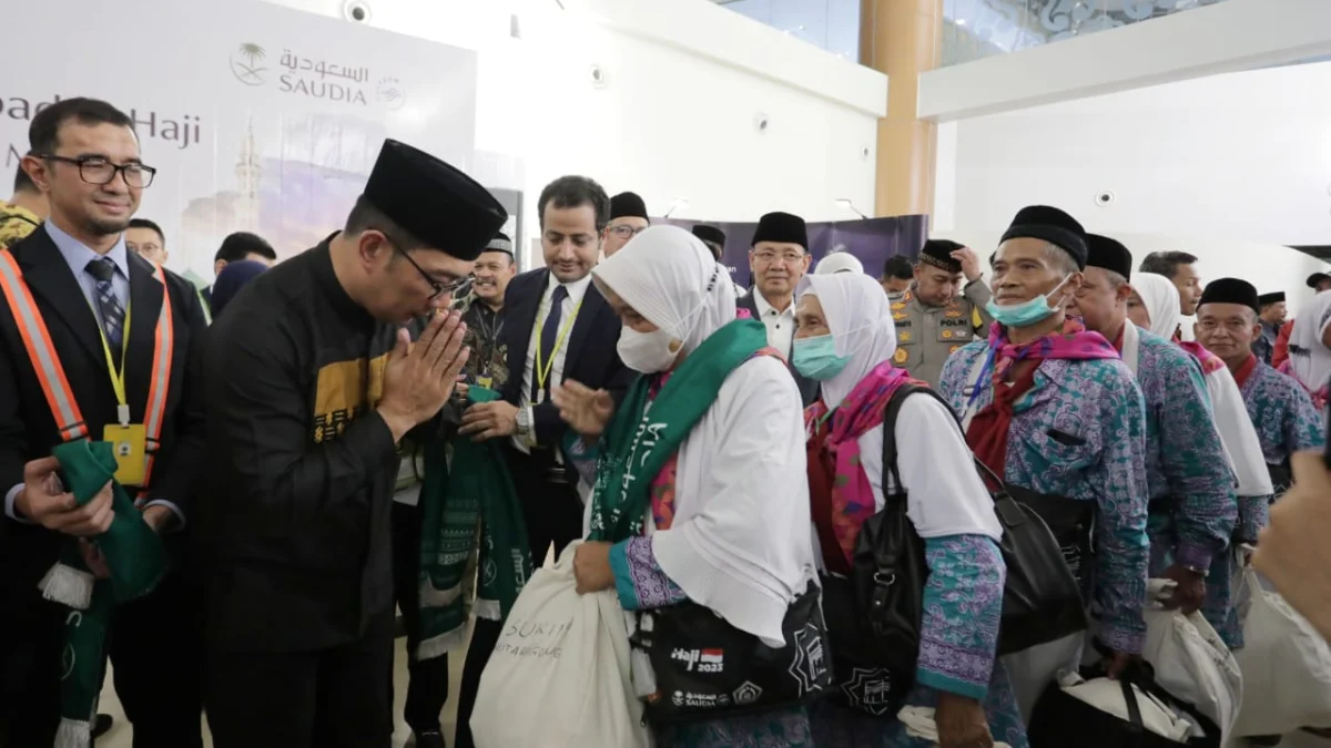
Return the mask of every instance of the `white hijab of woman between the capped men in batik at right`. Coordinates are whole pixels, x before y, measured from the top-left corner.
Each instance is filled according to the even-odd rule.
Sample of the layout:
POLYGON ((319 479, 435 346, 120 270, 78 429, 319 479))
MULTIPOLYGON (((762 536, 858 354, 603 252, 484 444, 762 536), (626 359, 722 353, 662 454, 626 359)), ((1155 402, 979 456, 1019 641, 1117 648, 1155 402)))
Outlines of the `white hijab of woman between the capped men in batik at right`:
MULTIPOLYGON (((1173 281, 1155 273, 1138 273, 1133 276, 1131 285, 1151 315, 1150 330, 1167 341, 1174 339, 1182 313, 1173 281)), ((1262 441, 1252 427, 1243 393, 1229 367, 1222 366, 1206 375, 1206 393, 1211 397, 1211 418, 1215 421, 1215 430, 1221 433, 1221 446, 1238 478, 1238 494, 1271 494, 1271 474, 1266 468, 1262 441)))

